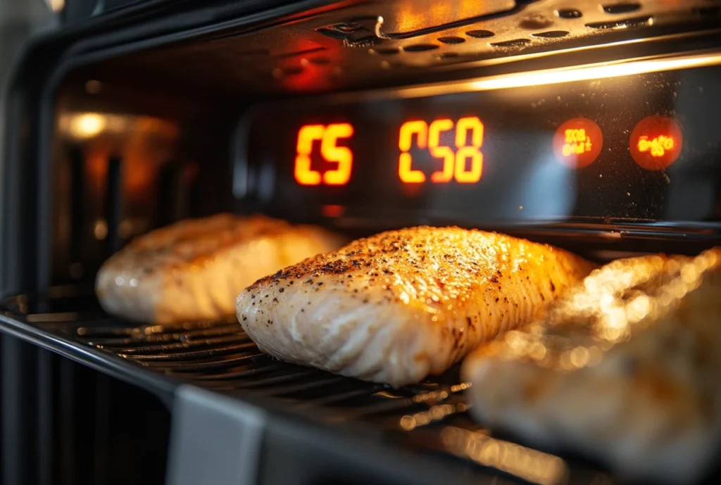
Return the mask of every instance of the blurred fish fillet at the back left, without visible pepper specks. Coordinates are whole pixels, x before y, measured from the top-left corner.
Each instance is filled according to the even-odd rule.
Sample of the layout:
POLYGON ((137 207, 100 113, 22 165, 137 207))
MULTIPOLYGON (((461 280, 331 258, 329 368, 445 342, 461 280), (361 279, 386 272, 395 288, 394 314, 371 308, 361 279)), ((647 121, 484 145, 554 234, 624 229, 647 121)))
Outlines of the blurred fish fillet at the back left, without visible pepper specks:
POLYGON ((110 257, 96 290, 108 313, 132 320, 221 319, 233 315, 238 294, 259 277, 340 244, 322 228, 262 215, 182 221, 110 257))

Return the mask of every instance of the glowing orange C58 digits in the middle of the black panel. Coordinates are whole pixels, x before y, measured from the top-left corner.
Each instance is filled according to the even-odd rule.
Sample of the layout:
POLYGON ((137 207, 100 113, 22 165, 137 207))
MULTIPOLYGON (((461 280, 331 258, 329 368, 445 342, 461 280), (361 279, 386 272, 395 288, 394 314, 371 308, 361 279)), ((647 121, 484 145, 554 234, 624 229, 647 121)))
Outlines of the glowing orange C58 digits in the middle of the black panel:
POLYGON ((413 135, 417 135, 416 146, 420 149, 428 148, 431 156, 443 160, 443 166, 430 175, 434 184, 445 184, 456 179, 460 184, 472 184, 481 179, 483 173, 483 145, 484 126, 477 117, 464 117, 455 123, 456 151, 449 146, 441 146, 441 133, 454 129, 453 120, 443 118, 430 123, 414 120, 401 125, 398 148, 401 154, 398 159, 398 177, 406 184, 420 184, 425 182, 425 174, 412 168, 412 156, 409 153, 413 145, 413 135), (471 143, 466 142, 471 138, 471 143), (467 160, 470 159, 470 166, 467 160))

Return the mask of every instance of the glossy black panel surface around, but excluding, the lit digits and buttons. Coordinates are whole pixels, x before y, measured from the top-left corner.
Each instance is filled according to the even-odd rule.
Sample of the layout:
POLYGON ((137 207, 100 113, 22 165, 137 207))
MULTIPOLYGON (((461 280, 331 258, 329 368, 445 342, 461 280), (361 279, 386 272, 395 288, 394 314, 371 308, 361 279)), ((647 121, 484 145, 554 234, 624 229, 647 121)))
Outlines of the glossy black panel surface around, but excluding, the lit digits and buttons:
MULTIPOLYGON (((249 120, 248 159, 266 164, 257 172, 258 194, 275 213, 302 208, 308 214, 397 216, 409 223, 452 218, 474 225, 718 221, 720 76, 721 68, 712 66, 415 99, 271 105, 249 120), (634 126, 650 115, 675 120, 683 134, 678 159, 663 170, 643 168, 629 151, 634 126), (431 174, 443 161, 418 149, 414 135, 412 169, 423 172, 425 182, 402 182, 401 125, 462 117, 478 117, 484 125, 479 181, 433 183, 431 174), (575 117, 593 120, 603 133, 600 155, 583 168, 563 164, 553 151, 557 128, 575 117), (342 186, 298 184, 298 131, 332 123, 354 128, 350 138, 337 141, 353 152, 350 180, 342 186)), ((455 150, 454 134, 443 132, 439 145, 455 150)), ((336 167, 322 158, 321 142, 314 142, 311 169, 324 174, 336 167)))

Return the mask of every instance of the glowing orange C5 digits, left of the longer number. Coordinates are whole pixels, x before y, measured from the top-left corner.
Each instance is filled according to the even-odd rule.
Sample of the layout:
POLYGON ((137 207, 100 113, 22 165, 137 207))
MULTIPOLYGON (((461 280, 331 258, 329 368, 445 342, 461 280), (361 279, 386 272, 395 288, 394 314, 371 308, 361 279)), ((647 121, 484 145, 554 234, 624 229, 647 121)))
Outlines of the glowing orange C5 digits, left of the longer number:
POLYGON ((296 144, 296 163, 293 173, 296 182, 301 185, 345 185, 350 180, 353 169, 353 151, 347 146, 337 146, 339 138, 353 136, 353 125, 335 123, 333 125, 304 125, 298 130, 296 144), (333 170, 321 175, 311 168, 313 142, 320 141, 320 154, 323 159, 337 164, 333 170))

